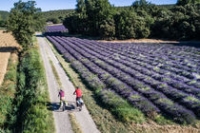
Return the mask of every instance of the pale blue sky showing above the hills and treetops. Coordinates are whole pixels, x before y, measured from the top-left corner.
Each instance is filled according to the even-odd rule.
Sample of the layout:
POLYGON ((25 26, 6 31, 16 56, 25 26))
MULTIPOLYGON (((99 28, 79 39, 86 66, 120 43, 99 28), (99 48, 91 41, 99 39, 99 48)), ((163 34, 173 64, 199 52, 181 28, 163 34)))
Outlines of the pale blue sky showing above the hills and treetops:
MULTIPOLYGON (((10 11, 14 7, 14 3, 19 0, 3 0, 0 4, 1 11, 10 11)), ((22 0, 27 2, 30 0, 22 0)), ((42 11, 60 10, 60 9, 75 9, 76 0, 34 0, 36 1, 36 7, 42 9, 42 11)), ((130 6, 135 0, 109 0, 111 5, 114 6, 130 6)), ((153 4, 176 4, 177 0, 146 0, 153 4)))

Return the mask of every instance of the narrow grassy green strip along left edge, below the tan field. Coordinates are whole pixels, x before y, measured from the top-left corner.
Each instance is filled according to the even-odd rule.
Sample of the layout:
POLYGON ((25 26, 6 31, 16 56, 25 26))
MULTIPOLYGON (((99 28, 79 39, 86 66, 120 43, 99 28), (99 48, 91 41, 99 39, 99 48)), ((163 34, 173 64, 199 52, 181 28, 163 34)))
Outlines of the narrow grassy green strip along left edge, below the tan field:
POLYGON ((0 87, 0 129, 7 130, 7 125, 15 121, 12 116, 13 101, 16 93, 17 61, 9 60, 4 82, 0 87))

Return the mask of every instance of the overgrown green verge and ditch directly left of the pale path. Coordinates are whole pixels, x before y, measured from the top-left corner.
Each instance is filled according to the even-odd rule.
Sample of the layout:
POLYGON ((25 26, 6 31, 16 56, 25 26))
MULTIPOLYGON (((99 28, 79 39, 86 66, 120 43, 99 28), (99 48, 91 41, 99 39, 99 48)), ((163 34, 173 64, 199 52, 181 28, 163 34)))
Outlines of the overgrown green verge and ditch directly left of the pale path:
POLYGON ((37 48, 22 54, 15 99, 15 122, 9 126, 14 132, 54 132, 53 121, 47 110, 48 93, 45 74, 37 48))

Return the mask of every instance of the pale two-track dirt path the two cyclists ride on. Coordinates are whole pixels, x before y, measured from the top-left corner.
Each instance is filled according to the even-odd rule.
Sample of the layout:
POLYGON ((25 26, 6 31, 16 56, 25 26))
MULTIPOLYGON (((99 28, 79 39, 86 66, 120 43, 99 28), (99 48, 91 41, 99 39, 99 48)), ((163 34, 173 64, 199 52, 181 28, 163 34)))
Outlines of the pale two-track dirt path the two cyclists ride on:
POLYGON ((63 68, 60 66, 59 61, 56 59, 46 39, 42 36, 37 36, 37 40, 40 47, 41 57, 44 62, 51 104, 55 107, 52 109, 52 111, 55 120, 56 133, 73 132, 71 123, 69 121, 69 113, 74 113, 75 119, 80 125, 83 133, 100 133, 85 106, 83 106, 81 112, 79 112, 77 109, 70 108, 71 105, 75 106, 75 96, 73 95, 74 86, 69 81, 69 78, 65 74, 63 68), (53 62, 53 65, 59 75, 60 81, 62 83, 62 88, 66 93, 66 100, 70 105, 64 112, 61 112, 57 109, 59 104, 59 86, 53 74, 50 60, 53 62))

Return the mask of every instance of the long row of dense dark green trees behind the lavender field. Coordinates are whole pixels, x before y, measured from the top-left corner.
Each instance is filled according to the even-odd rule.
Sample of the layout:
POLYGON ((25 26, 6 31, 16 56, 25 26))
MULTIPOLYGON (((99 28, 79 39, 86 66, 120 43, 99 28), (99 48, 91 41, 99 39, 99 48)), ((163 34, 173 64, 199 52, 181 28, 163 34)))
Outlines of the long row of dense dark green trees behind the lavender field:
POLYGON ((200 33, 200 1, 178 0, 175 5, 159 6, 137 0, 119 8, 108 0, 77 0, 75 12, 63 24, 71 34, 103 39, 196 40, 200 33))

